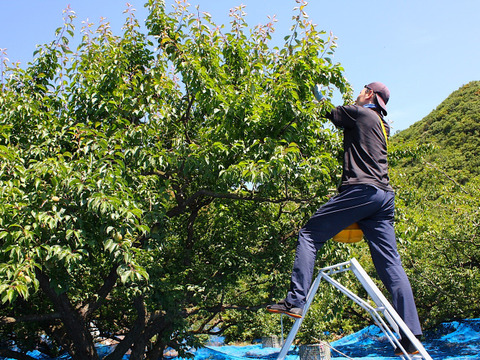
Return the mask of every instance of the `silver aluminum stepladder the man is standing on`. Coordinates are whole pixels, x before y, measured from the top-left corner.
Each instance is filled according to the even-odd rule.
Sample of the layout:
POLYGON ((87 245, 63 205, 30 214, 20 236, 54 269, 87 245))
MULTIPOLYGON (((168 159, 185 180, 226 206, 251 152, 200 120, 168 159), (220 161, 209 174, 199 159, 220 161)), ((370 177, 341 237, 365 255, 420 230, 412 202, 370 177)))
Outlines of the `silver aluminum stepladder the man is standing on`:
POLYGON ((372 316, 375 324, 382 330, 382 332, 386 335, 390 343, 395 347, 398 346, 402 349, 405 359, 418 359, 420 356, 425 360, 432 360, 430 355, 427 353, 425 348, 423 347, 422 343, 413 335, 410 329, 407 327, 405 322, 402 320, 400 315, 395 311, 393 306, 389 303, 387 298, 382 294, 380 289, 375 285, 373 280, 368 276, 365 270, 362 268, 360 263, 356 259, 351 259, 350 261, 340 263, 333 266, 328 266, 321 269, 316 277, 315 281, 313 282, 310 290, 307 294, 307 299, 303 311, 303 317, 297 319, 293 324, 292 329, 290 330, 285 343, 283 344, 280 353, 278 354, 277 360, 284 360, 287 356, 288 350, 297 335, 298 330, 300 329, 300 325, 302 325, 302 321, 307 314, 310 305, 312 304, 312 300, 317 293, 318 287, 320 286, 320 282, 324 279, 328 283, 332 284, 336 287, 340 292, 345 294, 355 303, 357 303, 360 307, 366 310, 372 316), (373 302, 375 303, 376 307, 373 307, 369 302, 360 298, 350 290, 348 290, 345 286, 340 284, 338 281, 333 279, 331 276, 343 273, 346 271, 352 271, 357 279, 360 281, 362 286, 367 291, 368 295, 371 297, 373 302), (388 325, 386 322, 388 322, 388 325), (390 326, 389 326, 390 325, 390 326), (405 349, 400 345, 399 340, 397 339, 397 335, 400 334, 400 330, 407 336, 412 344, 417 348, 419 354, 418 355, 408 355, 405 349))

